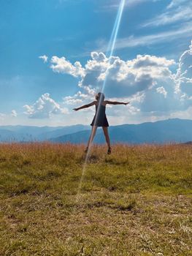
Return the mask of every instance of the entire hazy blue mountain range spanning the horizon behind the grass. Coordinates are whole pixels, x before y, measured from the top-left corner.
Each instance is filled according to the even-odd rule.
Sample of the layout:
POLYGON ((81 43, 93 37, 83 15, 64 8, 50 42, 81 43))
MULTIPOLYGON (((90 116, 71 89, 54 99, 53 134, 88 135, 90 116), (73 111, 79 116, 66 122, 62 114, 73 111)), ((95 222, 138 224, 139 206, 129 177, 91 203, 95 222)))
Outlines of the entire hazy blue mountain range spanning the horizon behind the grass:
MULTIPOLYGON (((87 143, 91 126, 69 127, 1 126, 0 142, 48 140, 53 143, 87 143)), ((192 120, 179 118, 143 124, 123 124, 109 127, 112 143, 187 143, 192 141, 192 120)), ((95 143, 105 143, 99 128, 95 143)))

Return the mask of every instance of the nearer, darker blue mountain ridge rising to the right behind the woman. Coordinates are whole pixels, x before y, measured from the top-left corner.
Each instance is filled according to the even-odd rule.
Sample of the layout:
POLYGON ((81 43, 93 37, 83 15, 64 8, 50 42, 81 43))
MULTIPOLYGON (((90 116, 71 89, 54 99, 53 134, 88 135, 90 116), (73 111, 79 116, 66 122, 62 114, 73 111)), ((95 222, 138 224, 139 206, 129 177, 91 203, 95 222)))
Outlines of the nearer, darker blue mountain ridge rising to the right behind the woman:
MULTIPOLYGON (((123 124, 110 127, 112 143, 185 143, 192 140, 192 120, 168 119, 143 124, 123 124)), ((52 138, 56 143, 87 143, 90 131, 74 132, 52 138)), ((101 129, 96 133, 95 143, 105 143, 101 129)))

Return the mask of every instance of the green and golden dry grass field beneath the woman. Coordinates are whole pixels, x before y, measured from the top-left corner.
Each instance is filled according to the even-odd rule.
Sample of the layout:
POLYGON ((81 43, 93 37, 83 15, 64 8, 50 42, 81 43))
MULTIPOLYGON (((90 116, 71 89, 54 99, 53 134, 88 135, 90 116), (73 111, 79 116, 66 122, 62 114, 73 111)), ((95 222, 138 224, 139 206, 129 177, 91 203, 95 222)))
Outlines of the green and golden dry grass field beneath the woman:
POLYGON ((0 255, 192 255, 192 146, 84 149, 0 145, 0 255))

